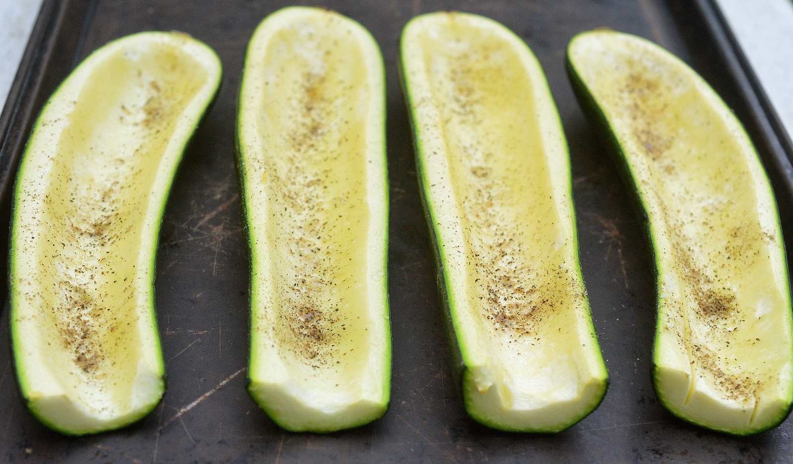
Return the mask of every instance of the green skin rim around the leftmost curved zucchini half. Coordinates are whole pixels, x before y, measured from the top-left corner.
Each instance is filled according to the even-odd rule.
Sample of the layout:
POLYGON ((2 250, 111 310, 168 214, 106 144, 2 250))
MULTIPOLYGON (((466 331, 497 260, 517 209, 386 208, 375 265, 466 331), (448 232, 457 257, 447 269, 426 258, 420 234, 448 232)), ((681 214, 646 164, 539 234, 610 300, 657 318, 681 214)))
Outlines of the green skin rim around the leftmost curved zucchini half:
MULTIPOLYGON (((210 78, 213 79, 213 78, 210 78)), ((9 265, 9 286, 10 286, 10 344, 13 350, 13 365, 14 370, 16 370, 17 375, 17 387, 21 392, 21 396, 25 402, 26 408, 28 408, 29 412, 32 416, 36 417, 40 423, 44 424, 48 428, 51 428, 53 431, 57 431, 62 433, 63 435, 72 435, 72 436, 82 436, 82 435, 90 435, 95 433, 100 433, 103 431, 111 431, 118 428, 124 428, 130 424, 137 422, 138 420, 143 419, 147 416, 158 404, 161 400, 163 394, 165 393, 165 381, 167 378, 167 374, 165 372, 164 366, 165 362, 163 359, 163 349, 162 343, 159 339, 159 327, 157 324, 156 313, 155 313, 155 292, 154 292, 154 280, 156 275, 156 268, 155 268, 155 259, 156 259, 156 251, 159 244, 159 229, 162 226, 162 219, 165 211, 165 207, 167 205, 167 200, 170 195, 170 190, 173 186, 173 180, 176 176, 178 171, 179 165, 181 163, 182 157, 190 147, 190 144, 193 141, 193 137, 197 131, 197 128, 205 121, 209 111, 214 105, 215 99, 217 94, 220 91, 220 82, 222 81, 222 64, 220 63, 220 58, 217 56, 216 52, 210 48, 208 45, 204 44, 200 40, 196 40, 193 37, 190 37, 186 33, 180 33, 178 31, 172 31, 169 33, 162 33, 162 32, 141 32, 141 33, 133 33, 128 36, 123 36, 116 40, 112 40, 109 43, 103 45, 102 47, 96 49, 92 52, 86 59, 83 59, 81 63, 73 71, 71 71, 70 75, 67 76, 66 79, 63 80, 56 87, 56 90, 53 91, 50 98, 48 98, 47 102, 44 103, 42 109, 40 110, 39 115, 36 117, 36 121, 31 128, 31 132, 29 135, 29 139, 27 144, 25 145, 25 150, 23 151, 21 163, 19 167, 19 171, 17 173, 17 181, 15 182, 15 186, 13 189, 13 197, 11 201, 11 240, 10 240, 10 251, 9 251, 9 258, 8 258, 8 265, 9 265), (173 159, 173 163, 165 166, 168 172, 168 178, 170 178, 170 183, 167 185, 167 188, 163 190, 161 194, 161 201, 157 204, 157 213, 159 217, 159 221, 155 225, 155 231, 152 234, 152 241, 151 244, 142 244, 142 247, 149 246, 151 247, 151 252, 149 255, 149 260, 147 265, 149 266, 149 274, 151 275, 150 282, 148 282, 148 307, 150 309, 150 317, 151 317, 151 332, 155 334, 151 340, 154 344, 151 349, 156 352, 156 356, 159 359, 159 384, 160 384, 160 392, 157 397, 152 397, 150 403, 144 407, 140 408, 136 414, 127 416, 124 420, 114 420, 112 423, 94 426, 92 428, 69 428, 64 426, 64 424, 59 423, 57 420, 53 420, 52 417, 48 416, 47 412, 40 410, 40 408, 36 405, 36 401, 34 398, 30 397, 27 381, 25 380, 25 369, 23 368, 24 362, 22 361, 22 347, 21 343, 23 343, 25 339, 25 334, 21 332, 21 329, 16 324, 17 320, 17 305, 15 302, 20 298, 17 295, 17 277, 16 277, 16 267, 15 263, 17 262, 17 236, 21 233, 17 230, 17 222, 21 222, 21 218, 18 217, 17 212, 17 205, 19 205, 19 201, 22 196, 22 190, 24 185, 22 184, 22 173, 25 171, 27 164, 29 164, 29 151, 32 149, 33 140, 36 137, 36 133, 40 131, 40 127, 43 124, 46 124, 45 118, 52 117, 51 114, 48 114, 48 109, 51 106, 52 102, 57 102, 59 99, 62 99, 60 96, 61 90, 68 85, 70 79, 75 79, 73 76, 78 75, 79 71, 82 68, 89 66, 90 59, 94 59, 95 56, 101 55, 105 49, 113 48, 116 46, 121 46, 126 41, 132 40, 145 40, 147 37, 151 37, 153 40, 158 40, 159 37, 163 37, 167 40, 168 36, 180 36, 182 37, 181 40, 189 43, 190 47, 195 47, 201 49, 201 53, 205 54, 205 56, 201 56, 201 58, 209 59, 205 65, 207 69, 209 69, 209 73, 215 73, 214 80, 208 81, 210 82, 209 85, 212 87, 212 92, 209 95, 209 98, 205 98, 205 102, 201 104, 200 111, 194 113, 194 117, 192 119, 192 124, 190 131, 186 133, 185 138, 182 140, 181 144, 178 148, 178 156, 173 159)), ((31 167, 27 167, 27 169, 32 169, 31 167)), ((161 169, 161 171, 163 171, 161 169)))

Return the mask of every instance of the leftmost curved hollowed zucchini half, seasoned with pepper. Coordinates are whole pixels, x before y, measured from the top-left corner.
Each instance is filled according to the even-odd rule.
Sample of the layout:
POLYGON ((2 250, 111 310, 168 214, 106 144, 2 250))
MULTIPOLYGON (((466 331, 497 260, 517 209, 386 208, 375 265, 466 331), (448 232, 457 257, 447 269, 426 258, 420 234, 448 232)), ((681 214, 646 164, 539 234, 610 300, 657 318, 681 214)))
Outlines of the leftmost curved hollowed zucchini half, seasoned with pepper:
POLYGON ((157 405, 155 254, 168 191, 220 85, 183 33, 137 33, 86 58, 30 136, 10 240, 13 357, 28 408, 69 435, 157 405))

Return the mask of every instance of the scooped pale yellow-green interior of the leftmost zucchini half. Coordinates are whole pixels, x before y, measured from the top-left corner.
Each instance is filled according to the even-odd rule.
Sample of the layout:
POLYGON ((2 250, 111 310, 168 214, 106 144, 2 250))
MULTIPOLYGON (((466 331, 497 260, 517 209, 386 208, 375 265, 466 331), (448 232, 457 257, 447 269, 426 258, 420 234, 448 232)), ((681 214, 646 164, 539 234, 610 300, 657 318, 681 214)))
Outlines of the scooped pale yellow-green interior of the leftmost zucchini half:
POLYGON ((27 295, 40 305, 40 359, 98 416, 131 406, 144 349, 139 292, 151 287, 152 270, 139 281, 136 269, 140 253, 152 253, 151 244, 140 249, 144 214, 171 132, 207 77, 205 65, 165 43, 119 49, 90 70, 55 140, 40 235, 14 251, 33 252, 38 264, 22 278, 40 289, 27 295))

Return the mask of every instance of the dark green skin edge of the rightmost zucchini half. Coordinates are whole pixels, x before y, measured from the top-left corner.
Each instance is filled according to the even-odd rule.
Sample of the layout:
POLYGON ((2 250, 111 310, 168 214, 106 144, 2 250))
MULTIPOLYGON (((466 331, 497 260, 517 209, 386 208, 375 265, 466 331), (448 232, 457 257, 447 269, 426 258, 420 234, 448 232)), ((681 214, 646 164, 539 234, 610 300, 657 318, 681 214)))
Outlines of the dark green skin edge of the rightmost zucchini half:
MULTIPOLYGON (((611 124, 611 121, 609 121, 603 107, 600 105, 600 103, 597 102, 597 99, 593 94, 592 90, 586 85, 584 79, 582 79, 582 77, 580 76, 579 71, 577 71, 575 63, 573 63, 573 59, 571 58, 570 50, 572 48, 573 41, 576 40, 578 36, 583 36, 584 34, 587 33, 588 32, 579 33, 577 34, 577 36, 573 36, 573 38, 570 40, 567 53, 565 54, 565 68, 569 76, 570 83, 573 87, 573 93, 576 95, 576 98, 579 102, 580 108, 584 113, 584 116, 586 117, 589 125, 592 126, 594 132, 596 133, 597 138, 600 140, 600 143, 603 144, 605 148, 607 148, 607 153, 611 158, 612 162, 615 164, 615 167, 618 168, 619 176, 622 179, 623 184, 626 186, 626 190, 628 191, 630 197, 630 203, 633 206, 634 213, 641 221, 642 229, 644 231, 644 236, 646 237, 646 240, 650 244, 649 246, 650 260, 653 266, 652 269, 653 274, 656 276, 655 301, 657 308, 657 315, 656 315, 657 330, 655 332, 655 337, 654 337, 655 339, 653 341, 653 359, 651 362, 653 389, 656 393, 656 396, 658 397, 659 401, 661 401, 661 405, 664 405, 664 407, 669 412, 672 412, 674 416, 676 416, 680 420, 684 420, 685 422, 688 422, 689 424, 693 424, 702 428, 707 428, 735 436, 756 435, 758 433, 768 431, 772 428, 776 428, 780 424, 782 424, 784 420, 787 419, 787 416, 789 416, 791 410, 793 410, 793 398, 791 398, 791 401, 788 401, 787 408, 780 413, 780 416, 776 420, 772 420, 768 424, 765 424, 762 427, 755 428, 750 431, 736 431, 730 428, 712 427, 710 425, 703 424, 702 422, 691 418, 690 416, 687 415, 686 412, 680 411, 674 405, 672 405, 672 403, 668 400, 667 393, 661 391, 659 387, 659 384, 661 382, 659 378, 659 367, 657 365, 656 354, 657 351, 659 350, 659 346, 660 346, 659 337, 661 335, 658 328, 661 327, 662 319, 664 316, 664 313, 662 312, 663 307, 661 305, 661 298, 660 298, 660 295, 662 293, 661 278, 660 278, 661 264, 659 263, 660 255, 659 255, 659 251, 657 250, 656 238, 653 236, 653 224, 649 219, 648 209, 645 204, 645 199, 642 197, 639 187, 637 185, 637 179, 634 177, 634 174, 631 171, 630 163, 628 161, 629 155, 626 152, 626 148, 623 146, 623 144, 620 143, 619 137, 617 136, 617 132, 614 126, 611 124)), ((630 34, 624 34, 624 33, 619 33, 619 34, 630 36, 630 34)), ((672 56, 671 53, 669 53, 669 55, 672 56)), ((674 58, 677 59, 676 57, 674 58)), ((680 59, 677 59, 677 61, 683 64, 685 67, 688 67, 688 65, 683 63, 680 59)), ((695 71, 693 70, 691 70, 691 72, 695 73, 695 71)), ((726 103, 723 102, 721 98, 719 98, 719 101, 722 102, 722 105, 726 107, 726 103)), ((748 134, 746 134, 745 128, 743 128, 740 121, 737 121, 737 117, 735 118, 735 121, 740 126, 740 130, 743 136, 745 136, 746 139, 749 140, 749 136, 748 134)), ((761 165, 760 156, 757 155, 756 149, 754 151, 754 155, 757 159, 757 162, 760 163, 761 165)), ((768 186, 770 189, 770 182, 768 182, 768 186)), ((776 198, 774 198, 773 194, 771 195, 771 201, 773 202, 772 205, 773 210, 778 212, 778 208, 776 205, 776 198)), ((781 237, 781 223, 778 213, 776 213, 776 228, 778 231, 780 231, 779 236, 781 237)), ((781 240, 780 240, 780 247, 784 255, 784 243, 781 240)), ((787 274, 786 260, 784 261, 784 272, 787 274)), ((787 293, 790 293, 789 288, 787 290, 787 293)), ((793 349, 793 347, 791 347, 791 349, 793 349)))

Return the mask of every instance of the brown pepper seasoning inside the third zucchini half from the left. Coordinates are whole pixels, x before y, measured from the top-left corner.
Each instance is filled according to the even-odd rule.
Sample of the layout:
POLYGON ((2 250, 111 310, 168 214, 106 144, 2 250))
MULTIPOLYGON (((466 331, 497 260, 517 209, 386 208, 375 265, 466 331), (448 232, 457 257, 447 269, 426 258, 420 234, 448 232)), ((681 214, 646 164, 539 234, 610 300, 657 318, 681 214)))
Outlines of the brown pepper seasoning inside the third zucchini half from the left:
MULTIPOLYGON (((480 94, 479 81, 490 79, 483 75, 485 68, 488 73, 499 74, 488 68, 497 66, 496 63, 488 61, 487 49, 455 56, 454 66, 445 76, 452 86, 450 99, 448 103, 445 99, 437 102, 454 115, 455 124, 479 131, 485 127, 485 116, 481 113, 485 97, 480 94), (481 63, 487 64, 483 67, 481 63)), ((536 262, 528 256, 524 246, 527 239, 522 236, 515 217, 509 217, 510 186, 497 172, 496 163, 503 161, 491 149, 473 142, 449 154, 454 157, 450 165, 459 172, 458 182, 464 182, 454 188, 462 195, 468 266, 475 273, 479 308, 483 318, 490 322, 488 325, 514 338, 535 336, 540 328, 547 327, 542 323, 551 313, 565 308, 574 299, 583 299, 584 294, 578 290, 577 278, 569 269, 549 261, 536 262)), ((550 199, 539 200, 532 206, 537 209, 535 217, 546 222, 557 220, 552 205, 550 199)))

